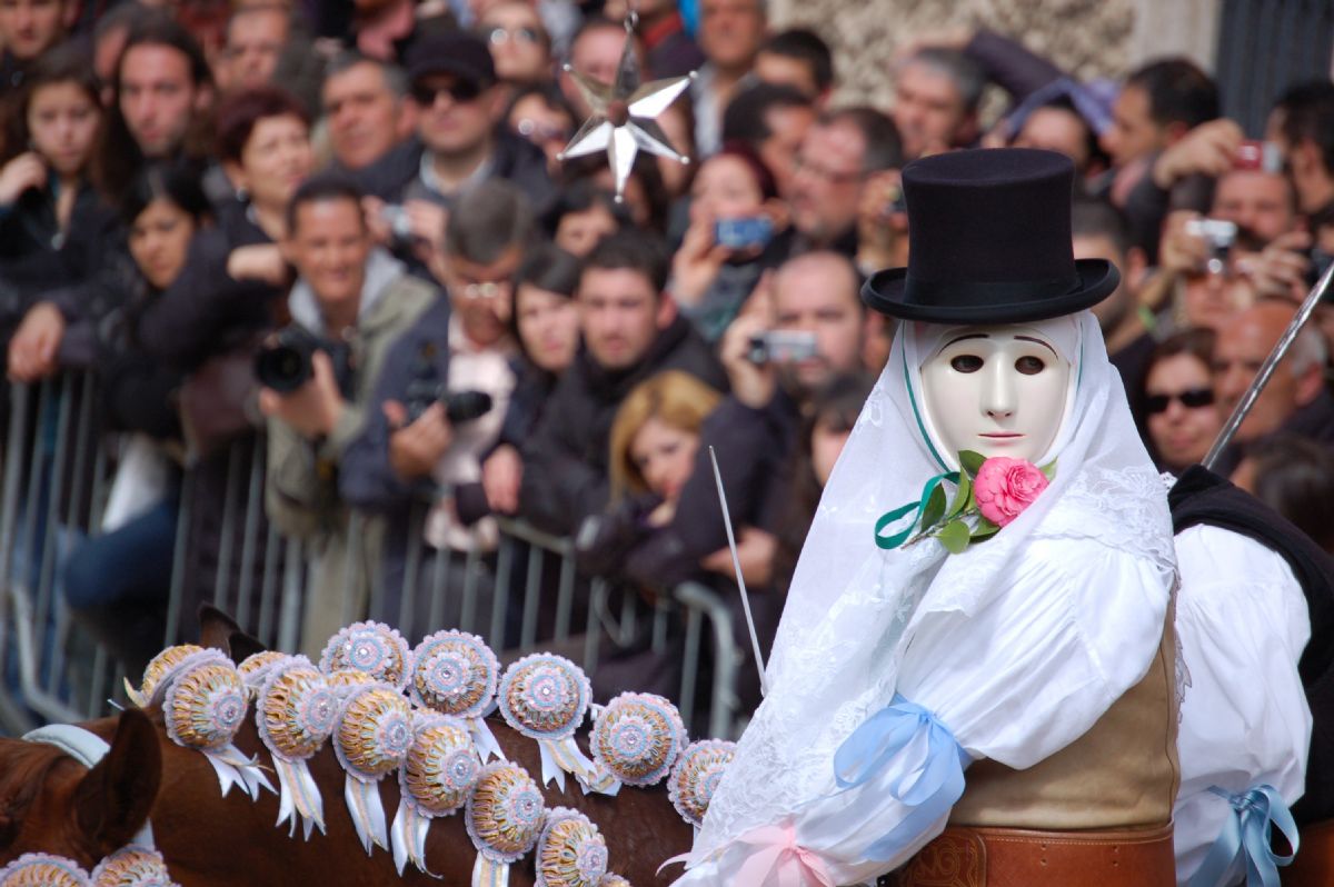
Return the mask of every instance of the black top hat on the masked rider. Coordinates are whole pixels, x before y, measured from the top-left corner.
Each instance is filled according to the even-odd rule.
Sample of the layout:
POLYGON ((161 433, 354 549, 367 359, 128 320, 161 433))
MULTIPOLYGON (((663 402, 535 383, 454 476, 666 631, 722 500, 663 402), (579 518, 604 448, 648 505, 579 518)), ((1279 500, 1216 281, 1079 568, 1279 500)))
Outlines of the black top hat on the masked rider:
POLYGON ((1074 313, 1121 283, 1105 259, 1075 261, 1074 164, 1030 148, 955 151, 903 168, 908 267, 880 271, 862 300, 904 320, 1022 323, 1074 313))

